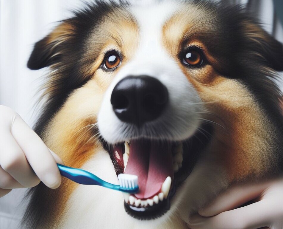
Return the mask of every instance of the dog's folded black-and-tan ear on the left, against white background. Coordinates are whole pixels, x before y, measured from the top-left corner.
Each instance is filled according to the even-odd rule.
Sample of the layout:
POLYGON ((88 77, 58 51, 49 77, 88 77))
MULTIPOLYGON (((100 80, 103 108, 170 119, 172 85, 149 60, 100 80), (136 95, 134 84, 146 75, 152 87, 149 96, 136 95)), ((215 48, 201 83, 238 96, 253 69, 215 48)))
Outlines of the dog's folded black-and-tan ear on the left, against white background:
POLYGON ((27 66, 37 70, 60 61, 68 39, 74 34, 70 21, 63 21, 49 35, 35 43, 27 66))

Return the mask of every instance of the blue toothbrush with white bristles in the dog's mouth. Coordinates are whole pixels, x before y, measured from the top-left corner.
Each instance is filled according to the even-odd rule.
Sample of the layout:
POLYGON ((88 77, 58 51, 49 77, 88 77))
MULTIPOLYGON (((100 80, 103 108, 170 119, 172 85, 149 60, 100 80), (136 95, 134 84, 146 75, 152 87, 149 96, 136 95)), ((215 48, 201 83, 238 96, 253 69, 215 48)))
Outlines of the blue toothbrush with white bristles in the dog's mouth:
POLYGON ((128 193, 137 193, 139 190, 137 185, 138 177, 136 175, 121 173, 118 175, 120 185, 114 185, 83 169, 72 168, 61 164, 57 164, 57 166, 62 176, 82 185, 100 185, 105 188, 128 193))

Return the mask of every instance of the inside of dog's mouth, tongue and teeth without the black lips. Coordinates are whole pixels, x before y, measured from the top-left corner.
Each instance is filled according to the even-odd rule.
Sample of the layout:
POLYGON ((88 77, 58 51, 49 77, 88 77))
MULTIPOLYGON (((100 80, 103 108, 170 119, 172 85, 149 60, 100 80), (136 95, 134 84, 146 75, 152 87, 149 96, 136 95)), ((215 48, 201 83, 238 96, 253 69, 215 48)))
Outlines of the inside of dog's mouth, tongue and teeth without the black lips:
POLYGON ((144 208, 167 199, 174 172, 182 167, 182 143, 132 140, 114 146, 114 157, 126 174, 139 178, 139 192, 125 194, 131 207, 144 208))

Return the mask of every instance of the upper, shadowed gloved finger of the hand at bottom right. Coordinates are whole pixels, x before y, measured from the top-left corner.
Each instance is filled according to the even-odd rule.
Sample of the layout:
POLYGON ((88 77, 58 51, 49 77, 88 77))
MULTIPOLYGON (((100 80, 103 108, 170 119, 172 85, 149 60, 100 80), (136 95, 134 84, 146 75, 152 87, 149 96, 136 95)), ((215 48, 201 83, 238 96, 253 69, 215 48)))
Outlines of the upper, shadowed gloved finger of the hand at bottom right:
POLYGON ((268 183, 231 187, 198 213, 208 217, 232 210, 257 198, 267 187, 268 183))

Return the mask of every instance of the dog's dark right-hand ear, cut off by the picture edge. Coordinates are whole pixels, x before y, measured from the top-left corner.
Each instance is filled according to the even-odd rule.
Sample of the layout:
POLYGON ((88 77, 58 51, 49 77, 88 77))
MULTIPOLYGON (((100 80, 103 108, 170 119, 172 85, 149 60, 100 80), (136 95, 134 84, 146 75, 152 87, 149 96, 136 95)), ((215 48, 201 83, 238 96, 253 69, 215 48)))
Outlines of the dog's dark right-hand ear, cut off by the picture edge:
POLYGON ((247 47, 268 67, 283 71, 283 45, 263 30, 259 24, 246 20, 243 23, 247 47))

